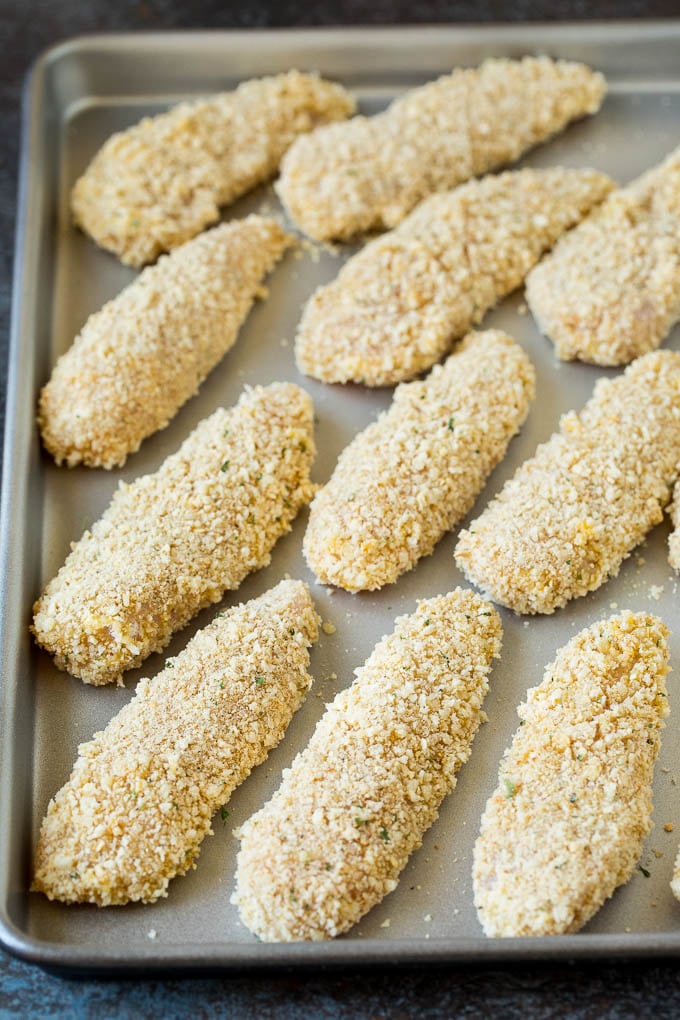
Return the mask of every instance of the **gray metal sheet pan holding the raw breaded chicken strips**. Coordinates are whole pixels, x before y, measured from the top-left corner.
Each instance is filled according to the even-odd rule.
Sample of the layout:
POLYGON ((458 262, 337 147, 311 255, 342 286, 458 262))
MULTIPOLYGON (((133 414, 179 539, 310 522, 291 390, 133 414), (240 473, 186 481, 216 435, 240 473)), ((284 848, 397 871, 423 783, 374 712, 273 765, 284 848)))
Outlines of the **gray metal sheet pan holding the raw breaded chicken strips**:
MULTIPOLYGON (((314 398, 319 424, 315 476, 328 476, 345 444, 387 405, 389 393, 324 387, 298 375, 292 341, 300 308, 314 287, 330 279, 346 252, 313 259, 289 257, 270 280, 269 298, 251 314, 236 348, 182 408, 171 425, 148 440, 122 471, 57 469, 41 452, 34 425, 38 390, 86 316, 133 278, 70 224, 67 196, 97 147, 111 132, 181 98, 233 87, 240 80, 297 66, 318 69, 358 94, 362 110, 380 109, 397 93, 489 55, 550 53, 582 59, 603 70, 610 92, 603 111, 570 128, 524 160, 527 165, 591 165, 626 182, 680 141, 680 23, 524 26, 308 32, 170 34, 91 37, 48 52, 25 94, 19 226, 16 248, 5 476, 2 502, 2 731, 0 775, 0 937, 10 951, 69 973, 148 972, 172 968, 329 966, 407 961, 492 962, 519 958, 653 956, 680 952, 680 906, 669 889, 680 835, 680 690, 670 678, 672 715, 655 782, 656 827, 642 864, 624 888, 577 935, 488 940, 475 917, 470 863, 485 800, 494 787, 501 754, 516 726, 515 708, 543 666, 576 629, 615 607, 649 609, 676 630, 677 583, 666 562, 667 525, 624 565, 620 576, 555 616, 530 621, 503 613, 503 658, 491 677, 488 723, 441 816, 412 858, 398 889, 347 936, 333 942, 258 944, 229 905, 237 840, 231 828, 277 786, 281 769, 304 746, 324 703, 351 682, 394 618, 419 597, 464 582, 454 566, 455 536, 435 554, 377 594, 332 594, 313 583, 300 548, 305 515, 275 549, 269 568, 249 578, 221 608, 252 598, 283 574, 312 582, 325 620, 313 652, 314 693, 283 743, 237 792, 229 824, 215 825, 197 871, 175 880, 153 906, 99 910, 50 904, 28 891, 31 857, 47 803, 68 776, 76 746, 101 728, 132 696, 141 674, 153 675, 164 657, 130 674, 124 690, 94 690, 58 673, 32 647, 31 605, 76 539, 108 503, 118 478, 150 471, 205 415, 232 404, 247 382, 293 379, 314 398), (642 562, 644 561, 644 562, 642 562), (676 832, 664 831, 675 822, 676 832)), ((276 208, 263 189, 227 210, 240 216, 276 208)), ((538 399, 521 436, 480 496, 476 512, 561 412, 587 399, 597 369, 558 364, 552 346, 522 314, 522 295, 485 319, 514 335, 538 372, 538 399)), ((680 330, 668 346, 680 347, 680 330)), ((196 626, 176 635, 181 649, 196 626)), ((676 666, 677 669, 677 666, 676 666)))

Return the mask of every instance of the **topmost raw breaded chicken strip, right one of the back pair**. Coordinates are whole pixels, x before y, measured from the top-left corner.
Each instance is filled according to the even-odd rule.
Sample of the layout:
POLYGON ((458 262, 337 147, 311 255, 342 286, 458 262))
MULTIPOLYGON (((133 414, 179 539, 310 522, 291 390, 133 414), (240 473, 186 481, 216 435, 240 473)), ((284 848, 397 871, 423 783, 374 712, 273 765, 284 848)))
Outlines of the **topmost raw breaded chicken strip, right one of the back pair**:
POLYGON ((518 159, 594 113, 605 79, 547 57, 486 60, 413 89, 377 116, 298 139, 276 190, 317 241, 396 226, 432 192, 518 159))

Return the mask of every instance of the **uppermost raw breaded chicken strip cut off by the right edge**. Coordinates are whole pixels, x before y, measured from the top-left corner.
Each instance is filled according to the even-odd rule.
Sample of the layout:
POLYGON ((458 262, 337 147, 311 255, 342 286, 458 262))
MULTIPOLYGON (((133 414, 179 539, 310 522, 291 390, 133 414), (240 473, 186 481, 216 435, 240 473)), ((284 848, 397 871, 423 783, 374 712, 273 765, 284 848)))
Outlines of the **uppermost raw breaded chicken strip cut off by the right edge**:
POLYGON ((680 149, 614 192, 527 278, 558 357, 623 365, 680 318, 680 149))

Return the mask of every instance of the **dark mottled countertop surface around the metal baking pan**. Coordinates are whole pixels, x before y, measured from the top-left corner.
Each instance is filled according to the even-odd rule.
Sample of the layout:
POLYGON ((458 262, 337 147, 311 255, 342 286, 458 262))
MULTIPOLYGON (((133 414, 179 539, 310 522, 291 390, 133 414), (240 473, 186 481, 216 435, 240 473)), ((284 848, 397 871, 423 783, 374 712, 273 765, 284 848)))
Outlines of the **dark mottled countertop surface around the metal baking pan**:
MULTIPOLYGON (((0 420, 4 419, 23 76, 47 46, 86 32, 400 22, 522 21, 680 14, 673 0, 0 0, 0 420)), ((64 981, 0 952, 4 1017, 680 1016, 675 962, 363 970, 302 976, 64 981)))

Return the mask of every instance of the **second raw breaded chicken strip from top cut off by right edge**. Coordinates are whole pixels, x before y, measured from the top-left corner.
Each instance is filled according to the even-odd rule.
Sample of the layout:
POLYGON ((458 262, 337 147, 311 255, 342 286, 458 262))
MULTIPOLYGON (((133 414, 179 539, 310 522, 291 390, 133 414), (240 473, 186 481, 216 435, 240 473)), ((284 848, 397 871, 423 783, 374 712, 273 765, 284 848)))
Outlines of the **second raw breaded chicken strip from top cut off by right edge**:
POLYGON ((494 602, 552 613, 616 575, 664 516, 680 468, 680 354, 599 379, 467 530, 456 561, 494 602))

